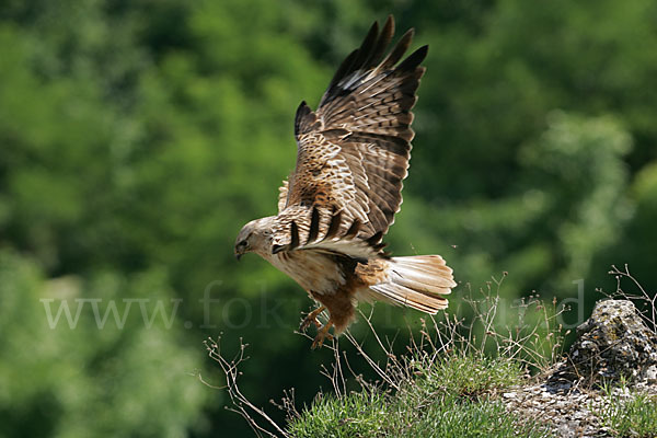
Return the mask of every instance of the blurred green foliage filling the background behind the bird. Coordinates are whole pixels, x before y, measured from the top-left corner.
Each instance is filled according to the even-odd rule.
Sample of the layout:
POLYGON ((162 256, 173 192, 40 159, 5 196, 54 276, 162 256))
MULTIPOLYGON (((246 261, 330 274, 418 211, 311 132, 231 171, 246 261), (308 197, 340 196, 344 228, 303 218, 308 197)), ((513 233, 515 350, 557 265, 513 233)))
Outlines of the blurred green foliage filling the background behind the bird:
MULTIPOLYGON (((310 302, 232 244, 276 210, 296 106, 388 13, 430 46, 392 250, 440 253, 474 288, 507 270, 508 299, 578 279, 592 297, 611 263, 657 288, 650 0, 5 0, 0 436, 241 436, 189 376, 220 384, 200 344, 220 332, 252 344, 256 403, 312 397, 330 357, 291 333, 310 302), (88 303, 50 328, 47 300, 76 299, 177 313, 149 328, 137 302, 100 330, 88 303)), ((374 313, 391 334, 418 316, 374 313)))

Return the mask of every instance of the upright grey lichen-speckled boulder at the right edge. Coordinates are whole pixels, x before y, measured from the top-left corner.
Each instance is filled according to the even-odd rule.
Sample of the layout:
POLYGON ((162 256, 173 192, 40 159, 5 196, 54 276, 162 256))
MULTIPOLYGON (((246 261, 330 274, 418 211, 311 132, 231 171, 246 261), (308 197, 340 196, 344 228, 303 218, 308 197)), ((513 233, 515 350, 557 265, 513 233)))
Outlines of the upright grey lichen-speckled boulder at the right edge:
POLYGON ((654 379, 657 372, 657 335, 643 322, 629 300, 599 301, 591 318, 577 327, 568 359, 549 383, 560 390, 577 381, 588 387, 622 378, 654 379))

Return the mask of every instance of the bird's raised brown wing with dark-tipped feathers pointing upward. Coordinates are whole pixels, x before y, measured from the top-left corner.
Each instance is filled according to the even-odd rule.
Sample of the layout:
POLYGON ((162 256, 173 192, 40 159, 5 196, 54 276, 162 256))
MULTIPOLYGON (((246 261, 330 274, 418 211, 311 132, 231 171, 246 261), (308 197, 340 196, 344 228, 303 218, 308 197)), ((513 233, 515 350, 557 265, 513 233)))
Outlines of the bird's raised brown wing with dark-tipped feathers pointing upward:
POLYGON ((374 23, 338 68, 319 108, 313 112, 302 102, 297 110, 297 166, 289 184, 280 188, 275 247, 310 249, 313 241, 313 249, 325 247, 336 212, 341 223, 331 239, 347 235, 351 247, 356 241, 377 246, 394 221, 414 136, 411 110, 425 72, 419 65, 427 46, 400 62, 413 30, 385 56, 393 33, 392 16, 380 32, 374 23), (292 222, 306 243, 291 245, 292 222))

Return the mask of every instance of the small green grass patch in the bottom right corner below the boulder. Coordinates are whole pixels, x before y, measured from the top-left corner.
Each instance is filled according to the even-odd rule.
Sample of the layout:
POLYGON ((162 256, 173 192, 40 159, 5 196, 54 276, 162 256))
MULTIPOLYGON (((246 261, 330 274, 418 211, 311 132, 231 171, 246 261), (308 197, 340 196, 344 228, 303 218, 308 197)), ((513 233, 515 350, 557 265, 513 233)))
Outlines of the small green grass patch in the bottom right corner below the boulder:
POLYGON ((604 389, 607 402, 600 423, 614 437, 657 437, 657 395, 635 394, 622 399, 610 387, 604 389))

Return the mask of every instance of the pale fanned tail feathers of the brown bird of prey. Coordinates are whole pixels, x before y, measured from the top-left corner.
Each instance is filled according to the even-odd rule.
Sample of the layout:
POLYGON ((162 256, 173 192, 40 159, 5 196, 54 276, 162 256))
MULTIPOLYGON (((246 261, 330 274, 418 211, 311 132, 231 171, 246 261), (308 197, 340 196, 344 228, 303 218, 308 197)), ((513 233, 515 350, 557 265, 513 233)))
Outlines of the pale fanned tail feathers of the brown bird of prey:
POLYGON ((387 274, 385 281, 370 286, 367 298, 430 314, 447 308, 445 296, 457 286, 452 269, 439 255, 393 257, 387 274))

